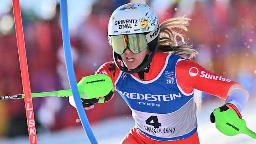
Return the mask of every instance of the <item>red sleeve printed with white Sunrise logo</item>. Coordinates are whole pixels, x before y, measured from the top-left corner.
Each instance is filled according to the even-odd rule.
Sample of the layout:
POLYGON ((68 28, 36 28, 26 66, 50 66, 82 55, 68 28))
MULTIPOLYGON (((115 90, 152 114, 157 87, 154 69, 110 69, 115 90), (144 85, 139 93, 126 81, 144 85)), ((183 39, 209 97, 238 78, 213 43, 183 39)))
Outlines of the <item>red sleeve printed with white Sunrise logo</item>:
POLYGON ((206 70, 192 60, 178 61, 175 72, 178 85, 186 93, 198 89, 226 100, 229 88, 234 84, 239 84, 206 70))

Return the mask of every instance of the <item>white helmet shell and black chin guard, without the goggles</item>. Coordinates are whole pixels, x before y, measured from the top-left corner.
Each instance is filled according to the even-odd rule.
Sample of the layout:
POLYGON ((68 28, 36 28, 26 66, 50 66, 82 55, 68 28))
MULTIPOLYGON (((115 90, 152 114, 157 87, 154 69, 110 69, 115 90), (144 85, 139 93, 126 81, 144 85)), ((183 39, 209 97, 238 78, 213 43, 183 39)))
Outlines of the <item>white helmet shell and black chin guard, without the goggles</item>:
MULTIPOLYGON (((130 34, 143 34, 147 40, 148 47, 152 54, 146 56, 144 61, 135 69, 128 70, 125 66, 119 66, 117 64, 117 59, 121 59, 120 51, 115 51, 113 48, 113 56, 117 67, 128 74, 137 73, 152 61, 156 49, 158 47, 159 40, 159 22, 156 13, 146 4, 141 3, 129 3, 119 6, 115 11, 113 11, 109 22, 108 22, 108 40, 109 44, 112 44, 113 36, 119 35, 130 35, 130 34), (117 54, 117 53, 120 54, 117 54)), ((116 49, 117 50, 117 49, 116 49)))

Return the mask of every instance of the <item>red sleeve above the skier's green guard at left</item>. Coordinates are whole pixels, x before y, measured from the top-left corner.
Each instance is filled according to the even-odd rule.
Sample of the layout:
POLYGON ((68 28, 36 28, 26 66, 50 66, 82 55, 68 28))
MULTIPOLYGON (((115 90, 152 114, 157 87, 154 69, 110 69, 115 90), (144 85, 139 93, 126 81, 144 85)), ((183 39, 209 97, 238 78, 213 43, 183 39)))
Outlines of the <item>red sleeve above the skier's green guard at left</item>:
POLYGON ((120 73, 119 68, 117 68, 117 66, 115 66, 115 62, 114 61, 109 61, 106 62, 105 64, 103 64, 102 66, 100 66, 100 68, 95 72, 95 74, 106 74, 108 75, 112 82, 113 82, 113 86, 115 88, 115 81, 117 80, 117 77, 120 73))

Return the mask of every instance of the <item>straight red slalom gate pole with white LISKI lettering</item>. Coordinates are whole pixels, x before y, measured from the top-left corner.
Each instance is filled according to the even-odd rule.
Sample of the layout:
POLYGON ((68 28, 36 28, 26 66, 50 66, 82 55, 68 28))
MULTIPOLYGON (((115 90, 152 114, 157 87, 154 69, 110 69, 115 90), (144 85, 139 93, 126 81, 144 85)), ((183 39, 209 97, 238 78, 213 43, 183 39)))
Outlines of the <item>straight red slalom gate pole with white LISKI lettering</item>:
POLYGON ((35 118, 34 118, 30 82, 29 82, 29 76, 28 76, 28 63, 26 58, 26 49, 25 49, 19 0, 13 0, 13 16, 14 16, 14 22, 15 22, 18 53, 19 53, 19 59, 20 59, 22 87, 24 92, 24 101, 25 101, 26 116, 27 116, 27 123, 28 123, 28 135, 29 135, 30 144, 37 144, 37 134, 35 129, 35 118))

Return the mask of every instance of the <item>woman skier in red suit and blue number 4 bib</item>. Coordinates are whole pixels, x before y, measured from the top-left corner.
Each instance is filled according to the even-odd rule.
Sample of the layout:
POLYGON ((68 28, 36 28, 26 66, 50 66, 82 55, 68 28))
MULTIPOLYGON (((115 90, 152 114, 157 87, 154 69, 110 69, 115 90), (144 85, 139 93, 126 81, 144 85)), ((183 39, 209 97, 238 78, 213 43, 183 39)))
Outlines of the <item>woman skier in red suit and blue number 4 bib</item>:
MULTIPOLYGON (((199 144, 194 89, 225 99, 221 111, 230 108, 241 118, 247 90, 192 60, 197 51, 176 32, 187 31, 189 20, 177 17, 159 25, 152 8, 140 3, 124 4, 111 15, 108 40, 114 61, 95 73, 112 79, 135 119, 121 144, 199 144)), ((98 99, 81 100, 89 109, 98 99)), ((75 106, 72 97, 69 101, 75 106)), ((210 118, 215 122, 213 113, 210 118)))

